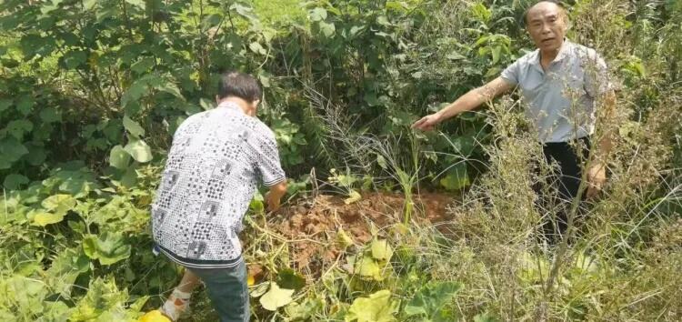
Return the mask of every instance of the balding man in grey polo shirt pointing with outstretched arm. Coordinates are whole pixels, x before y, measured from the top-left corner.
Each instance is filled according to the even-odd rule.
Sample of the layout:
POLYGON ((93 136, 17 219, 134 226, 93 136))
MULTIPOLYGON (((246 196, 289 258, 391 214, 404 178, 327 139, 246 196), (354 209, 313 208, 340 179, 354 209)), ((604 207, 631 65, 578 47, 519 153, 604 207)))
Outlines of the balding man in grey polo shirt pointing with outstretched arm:
MULTIPOLYGON (((538 140, 548 162, 556 161, 561 174, 559 197, 577 197, 582 177, 581 161, 585 150, 577 152, 571 143, 582 141, 589 149, 594 133, 597 102, 611 114, 615 95, 607 82, 607 65, 594 49, 571 43, 565 38, 568 19, 564 7, 556 1, 541 1, 530 7, 525 16, 527 32, 537 50, 509 65, 502 75, 459 97, 440 111, 424 116, 413 125, 431 130, 444 120, 518 88, 527 105, 526 115, 537 128, 538 140)), ((580 146, 580 145, 578 145, 580 146)), ((606 181, 605 159, 610 140, 604 136, 597 147, 598 162, 588 167, 587 197, 595 196, 606 181)), ((582 197, 582 196, 580 196, 582 197)), ((567 228, 567 212, 559 212, 555 232, 567 228)))

